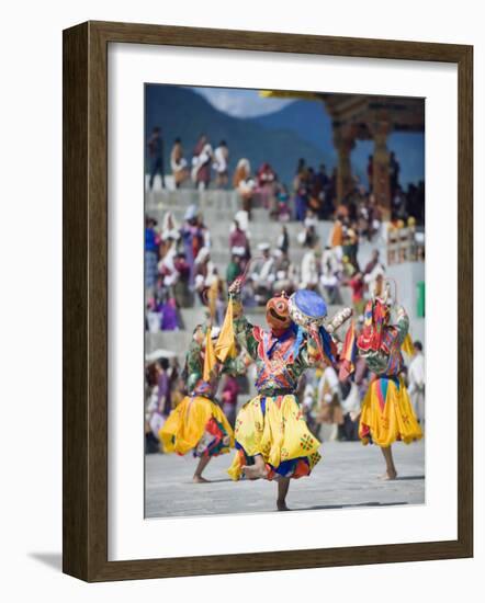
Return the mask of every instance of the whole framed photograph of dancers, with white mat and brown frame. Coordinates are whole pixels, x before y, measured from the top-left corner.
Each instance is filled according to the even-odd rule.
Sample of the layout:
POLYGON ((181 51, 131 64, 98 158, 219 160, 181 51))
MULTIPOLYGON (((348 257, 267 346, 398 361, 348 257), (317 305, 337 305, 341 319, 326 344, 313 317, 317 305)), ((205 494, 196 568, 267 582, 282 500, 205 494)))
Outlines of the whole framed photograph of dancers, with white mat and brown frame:
POLYGON ((472 79, 471 46, 64 32, 66 573, 473 555, 472 79))

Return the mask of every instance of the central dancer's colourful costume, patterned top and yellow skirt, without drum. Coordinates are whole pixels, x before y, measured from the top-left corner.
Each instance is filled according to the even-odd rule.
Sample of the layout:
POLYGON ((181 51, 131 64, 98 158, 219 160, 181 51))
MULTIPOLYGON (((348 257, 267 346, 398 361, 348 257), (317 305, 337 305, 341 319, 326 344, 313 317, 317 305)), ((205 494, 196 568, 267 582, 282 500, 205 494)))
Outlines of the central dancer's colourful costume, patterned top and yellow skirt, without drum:
MULTIPOLYGON (((268 306, 273 300, 277 308, 286 303, 277 297, 268 306)), ((232 294, 229 311, 238 343, 256 363, 258 396, 237 416, 237 452, 228 474, 238 480, 243 466, 252 465, 253 457, 262 455, 267 479, 307 476, 320 459, 320 442, 309 432, 295 391, 302 373, 322 359, 322 343, 318 345, 291 320, 278 335, 250 325, 243 315, 239 293, 232 294)))

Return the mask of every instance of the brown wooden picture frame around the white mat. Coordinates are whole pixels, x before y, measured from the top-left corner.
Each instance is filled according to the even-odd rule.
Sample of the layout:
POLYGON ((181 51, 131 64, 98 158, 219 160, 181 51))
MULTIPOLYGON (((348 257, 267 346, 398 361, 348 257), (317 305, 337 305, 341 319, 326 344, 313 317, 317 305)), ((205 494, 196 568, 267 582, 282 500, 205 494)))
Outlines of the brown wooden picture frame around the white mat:
POLYGON ((419 561, 473 555, 473 48, 87 22, 64 32, 64 571, 87 581, 419 561), (108 45, 134 43, 441 61, 459 78, 458 539, 108 560, 108 45))

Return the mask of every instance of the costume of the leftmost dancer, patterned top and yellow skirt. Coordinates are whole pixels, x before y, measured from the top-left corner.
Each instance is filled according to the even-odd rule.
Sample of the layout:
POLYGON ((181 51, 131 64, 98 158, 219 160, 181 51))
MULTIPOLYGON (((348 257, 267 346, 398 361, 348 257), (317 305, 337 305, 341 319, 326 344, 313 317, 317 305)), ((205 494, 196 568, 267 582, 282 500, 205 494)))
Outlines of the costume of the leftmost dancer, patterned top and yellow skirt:
MULTIPOLYGON (((159 432, 166 453, 184 455, 193 451, 193 455, 199 457, 217 456, 228 453, 234 446, 230 424, 221 407, 212 401, 217 378, 213 371, 207 374, 206 359, 211 355, 214 355, 211 329, 199 326, 185 360, 187 386, 191 394, 171 411, 159 432)), ((215 365, 215 359, 211 364, 212 367, 215 365)), ((235 361, 229 359, 224 364, 224 371, 235 371, 235 361)))

